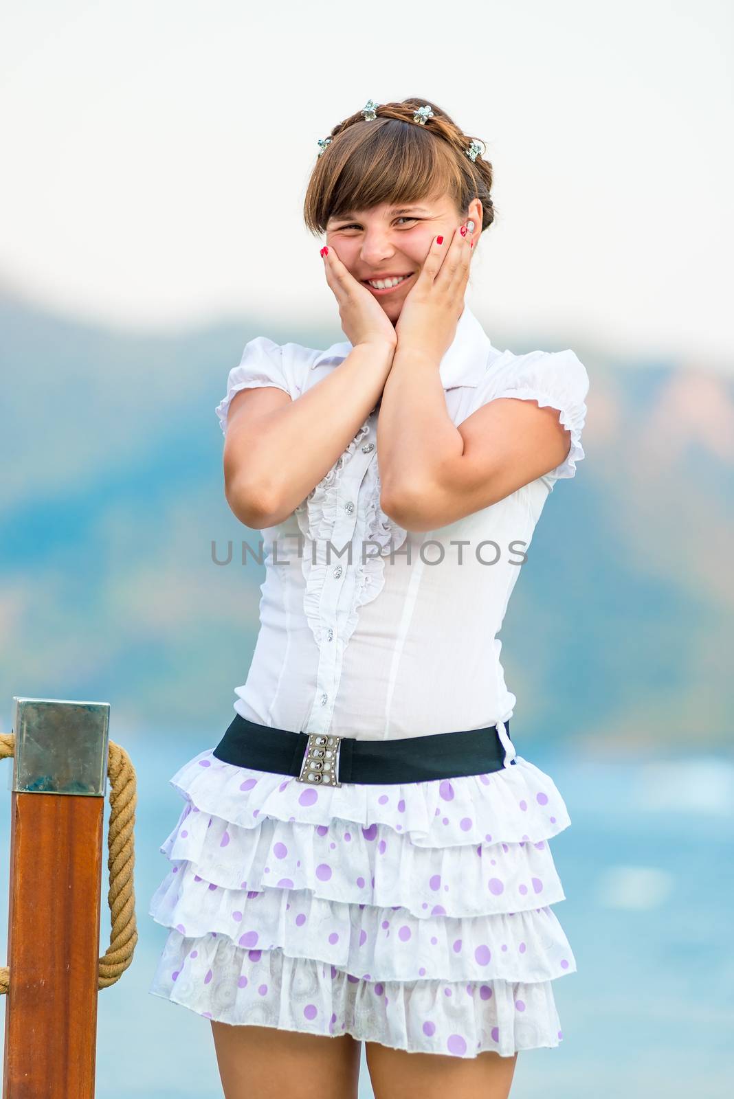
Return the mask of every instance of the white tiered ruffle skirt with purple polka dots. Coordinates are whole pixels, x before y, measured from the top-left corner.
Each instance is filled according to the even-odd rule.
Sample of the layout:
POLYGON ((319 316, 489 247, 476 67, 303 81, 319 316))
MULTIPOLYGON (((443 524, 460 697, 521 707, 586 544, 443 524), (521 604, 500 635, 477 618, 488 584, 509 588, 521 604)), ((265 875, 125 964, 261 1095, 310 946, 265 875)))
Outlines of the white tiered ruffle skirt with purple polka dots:
POLYGON ((210 750, 170 779, 149 991, 199 1014, 475 1057, 556 1046, 576 961, 548 840, 570 824, 533 764, 316 789, 210 750))

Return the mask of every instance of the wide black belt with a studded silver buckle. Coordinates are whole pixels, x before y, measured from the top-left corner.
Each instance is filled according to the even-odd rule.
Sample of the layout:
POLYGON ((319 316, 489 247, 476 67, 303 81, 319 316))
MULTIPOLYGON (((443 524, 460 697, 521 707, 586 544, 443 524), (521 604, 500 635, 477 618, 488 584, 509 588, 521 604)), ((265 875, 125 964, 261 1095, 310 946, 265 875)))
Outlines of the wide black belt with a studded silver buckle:
MULTIPOLYGON (((504 722, 510 735, 510 722, 504 722)), ((424 782, 483 775, 504 766, 497 725, 391 741, 334 733, 294 733, 236 714, 212 755, 254 770, 292 775, 309 785, 424 782)), ((510 761, 513 764, 514 757, 510 761)))

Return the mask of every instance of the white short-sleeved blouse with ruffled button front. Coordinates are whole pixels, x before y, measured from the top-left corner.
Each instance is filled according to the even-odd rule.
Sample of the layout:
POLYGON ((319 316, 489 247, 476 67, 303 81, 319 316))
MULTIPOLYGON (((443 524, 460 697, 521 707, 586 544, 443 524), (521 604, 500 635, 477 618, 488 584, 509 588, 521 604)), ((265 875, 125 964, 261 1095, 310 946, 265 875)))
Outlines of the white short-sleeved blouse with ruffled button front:
MULTIPOLYGON (((251 340, 215 410, 222 431, 241 389, 276 386, 296 400, 351 349, 348 341, 314 351, 251 340)), ((440 376, 457 425, 500 397, 558 409, 571 436, 566 459, 457 522, 405 531, 380 508, 374 409, 307 499, 262 533, 259 633, 234 703, 251 721, 390 740, 512 717, 497 634, 554 482, 574 477, 583 457, 589 379, 570 349, 498 351, 466 304, 440 376)))

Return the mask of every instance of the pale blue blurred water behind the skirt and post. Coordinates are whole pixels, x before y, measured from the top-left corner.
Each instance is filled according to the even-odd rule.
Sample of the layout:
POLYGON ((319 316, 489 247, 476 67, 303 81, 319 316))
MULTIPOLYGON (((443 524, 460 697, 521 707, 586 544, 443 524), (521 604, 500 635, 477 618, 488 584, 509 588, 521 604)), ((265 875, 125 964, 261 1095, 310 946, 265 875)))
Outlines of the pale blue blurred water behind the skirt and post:
MULTIPOLYGON (((120 737, 120 743, 137 771, 140 941, 131 967, 99 993, 97 1097, 222 1099, 208 1020, 147 991, 166 937, 147 915, 149 897, 167 868, 158 846, 182 807, 168 778, 215 741, 158 731, 120 737), (132 1056, 123 1059, 121 1074, 123 1043, 132 1056)), ((734 1079, 734 763, 715 756, 579 761, 535 748, 526 756, 552 776, 571 818, 570 828, 550 844, 566 892, 554 910, 578 973, 554 985, 564 1042, 519 1055, 512 1099, 729 1097, 734 1079)), ((0 851, 7 853, 10 784, 3 779, 2 785, 0 851)), ((3 870, 3 944, 7 878, 3 870)), ((110 930, 105 880, 102 904, 100 953, 110 930)), ((4 997, 0 1015, 4 1025, 4 997)), ((359 1095, 372 1096, 364 1053, 359 1095)))

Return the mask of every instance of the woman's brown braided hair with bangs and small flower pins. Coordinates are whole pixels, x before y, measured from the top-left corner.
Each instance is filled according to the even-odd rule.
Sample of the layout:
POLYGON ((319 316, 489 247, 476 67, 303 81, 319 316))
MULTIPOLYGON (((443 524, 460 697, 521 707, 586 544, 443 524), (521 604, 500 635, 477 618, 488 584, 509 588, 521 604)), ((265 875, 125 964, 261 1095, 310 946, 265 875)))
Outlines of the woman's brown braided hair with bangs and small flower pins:
MULTIPOLYGON (((435 103, 425 124, 413 122, 424 99, 381 103, 366 122, 362 111, 338 122, 316 159, 305 191, 303 219, 313 233, 324 233, 330 218, 349 210, 369 210, 451 195, 460 214, 478 198, 480 232, 492 224, 492 166, 481 155, 466 155, 467 136, 435 103)), ((483 142, 481 143, 483 146, 483 142)))

